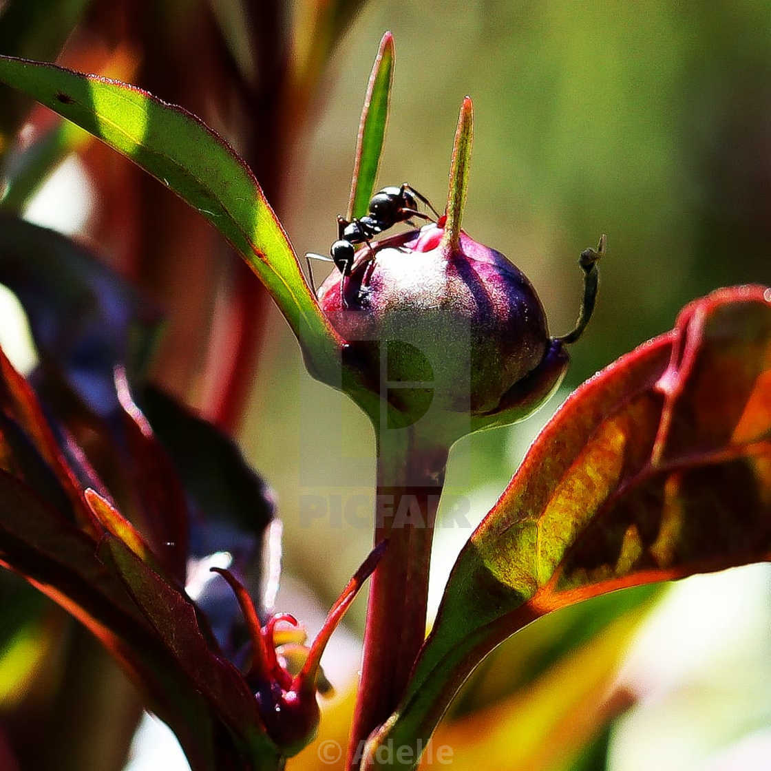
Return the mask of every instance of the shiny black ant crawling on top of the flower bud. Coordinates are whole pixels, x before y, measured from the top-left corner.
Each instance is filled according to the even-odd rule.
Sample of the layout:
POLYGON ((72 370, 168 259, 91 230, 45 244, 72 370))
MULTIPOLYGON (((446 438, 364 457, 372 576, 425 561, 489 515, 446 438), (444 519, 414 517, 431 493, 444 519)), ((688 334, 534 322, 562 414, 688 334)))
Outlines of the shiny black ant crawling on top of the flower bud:
MULTIPOLYGON (((325 262, 334 262, 335 268, 341 273, 340 277, 340 304, 342 308, 348 308, 345 301, 343 286, 345 278, 351 275, 353 270, 353 261, 356 250, 355 244, 367 244, 370 253, 372 253, 372 244, 370 241, 376 235, 387 231, 399 222, 406 222, 414 225, 412 217, 419 217, 422 220, 430 220, 428 214, 418 210, 418 201, 426 204, 430 210, 441 216, 432 206, 431 202, 420 194, 414 187, 403 184, 401 187, 384 187, 379 190, 369 200, 369 214, 359 219, 348 221, 338 215, 338 240, 332 244, 329 249, 329 257, 323 254, 313 254, 308 252, 305 259, 308 261, 308 278, 311 280, 311 288, 316 291, 313 281, 313 269, 311 268, 311 258, 323 260, 325 262)), ((375 256, 372 254, 372 261, 375 256)))

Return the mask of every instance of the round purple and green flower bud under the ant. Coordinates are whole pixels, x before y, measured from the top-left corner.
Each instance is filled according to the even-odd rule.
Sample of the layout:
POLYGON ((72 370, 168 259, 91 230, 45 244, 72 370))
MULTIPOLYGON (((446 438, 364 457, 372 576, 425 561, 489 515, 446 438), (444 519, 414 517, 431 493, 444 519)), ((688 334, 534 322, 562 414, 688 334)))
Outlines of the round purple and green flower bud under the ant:
POLYGON ((460 436, 540 406, 561 382, 567 353, 549 337, 522 271, 465 233, 451 247, 444 224, 363 249, 350 276, 335 271, 322 284, 319 300, 348 341, 347 363, 402 426, 424 415, 460 426, 465 417, 460 436))

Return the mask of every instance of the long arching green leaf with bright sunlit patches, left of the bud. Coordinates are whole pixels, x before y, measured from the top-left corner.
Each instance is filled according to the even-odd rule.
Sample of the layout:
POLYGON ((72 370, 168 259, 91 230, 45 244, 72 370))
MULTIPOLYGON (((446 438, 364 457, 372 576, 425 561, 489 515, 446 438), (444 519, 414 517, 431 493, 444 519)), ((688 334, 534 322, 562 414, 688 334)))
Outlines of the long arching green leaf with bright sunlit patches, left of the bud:
POLYGON ((196 208, 241 253, 297 335, 312 373, 339 381, 342 341, 244 160, 187 110, 135 86, 0 56, 0 80, 123 153, 196 208))

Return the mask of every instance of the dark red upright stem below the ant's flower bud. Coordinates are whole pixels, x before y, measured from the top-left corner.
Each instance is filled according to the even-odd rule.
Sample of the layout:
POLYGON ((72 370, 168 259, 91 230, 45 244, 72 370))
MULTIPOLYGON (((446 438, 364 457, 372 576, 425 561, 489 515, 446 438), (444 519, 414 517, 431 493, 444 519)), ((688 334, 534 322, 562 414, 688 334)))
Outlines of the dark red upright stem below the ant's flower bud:
POLYGON ((412 428, 379 436, 375 544, 387 539, 388 547, 369 589, 348 769, 358 767, 364 740, 402 698, 426 637, 431 541, 447 454, 412 428))

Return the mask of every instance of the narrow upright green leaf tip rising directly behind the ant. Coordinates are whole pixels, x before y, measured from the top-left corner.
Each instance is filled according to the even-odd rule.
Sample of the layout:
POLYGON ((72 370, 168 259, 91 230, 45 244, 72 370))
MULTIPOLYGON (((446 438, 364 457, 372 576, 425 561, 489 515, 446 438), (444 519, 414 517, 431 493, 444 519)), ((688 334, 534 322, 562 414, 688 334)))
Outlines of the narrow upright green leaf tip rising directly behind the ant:
POLYGON ((351 180, 351 197, 348 200, 348 220, 364 217, 369 211, 369 199, 375 190, 375 180, 380 166, 385 126, 388 124, 391 85, 393 82, 393 35, 386 32, 380 41, 375 64, 367 84, 359 137, 356 140, 356 157, 351 180))

